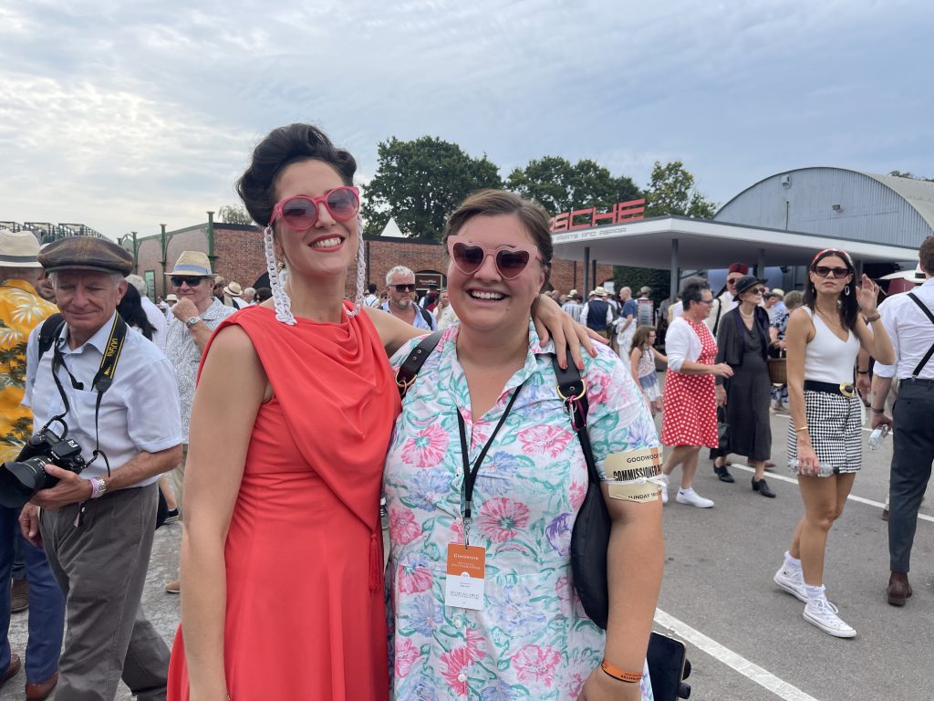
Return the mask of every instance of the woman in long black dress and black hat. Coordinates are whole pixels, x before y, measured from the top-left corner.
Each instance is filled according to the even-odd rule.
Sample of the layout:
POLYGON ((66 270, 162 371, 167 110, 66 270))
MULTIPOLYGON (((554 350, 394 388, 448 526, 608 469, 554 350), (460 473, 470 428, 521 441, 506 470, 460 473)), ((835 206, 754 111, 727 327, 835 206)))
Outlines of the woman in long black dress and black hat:
MULTIPOLYGON (((733 368, 731 378, 717 378, 717 402, 726 408, 727 446, 730 452, 745 455, 756 470, 753 490, 774 498, 765 479, 765 463, 771 455, 769 402, 769 315, 759 307, 762 281, 744 275, 736 281, 740 304, 723 315, 716 335, 716 362, 733 368)), ((725 461, 726 458, 717 458, 725 461)), ((724 468, 725 465, 717 465, 724 468)))

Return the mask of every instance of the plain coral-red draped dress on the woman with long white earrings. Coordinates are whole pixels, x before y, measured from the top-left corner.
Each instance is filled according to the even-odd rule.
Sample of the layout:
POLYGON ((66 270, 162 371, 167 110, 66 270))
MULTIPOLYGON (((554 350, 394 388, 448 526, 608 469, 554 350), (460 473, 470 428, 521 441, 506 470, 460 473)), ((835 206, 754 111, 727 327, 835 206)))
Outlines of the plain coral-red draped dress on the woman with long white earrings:
MULTIPOLYGON (((247 332, 274 396, 250 436, 224 551, 228 692, 384 701, 379 495, 400 402, 382 342, 365 313, 287 326, 253 307, 218 332, 229 325, 247 332)), ((179 626, 168 700, 188 698, 179 626)))

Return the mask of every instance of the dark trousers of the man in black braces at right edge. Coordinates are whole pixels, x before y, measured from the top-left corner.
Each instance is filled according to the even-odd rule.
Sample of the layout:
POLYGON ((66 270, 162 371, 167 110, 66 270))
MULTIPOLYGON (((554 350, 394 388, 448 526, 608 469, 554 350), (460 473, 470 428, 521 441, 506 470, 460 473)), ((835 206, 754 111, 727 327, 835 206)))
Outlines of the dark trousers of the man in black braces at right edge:
POLYGON ((934 380, 901 380, 892 419, 895 444, 889 478, 888 555, 893 572, 908 572, 918 508, 934 461, 934 380))

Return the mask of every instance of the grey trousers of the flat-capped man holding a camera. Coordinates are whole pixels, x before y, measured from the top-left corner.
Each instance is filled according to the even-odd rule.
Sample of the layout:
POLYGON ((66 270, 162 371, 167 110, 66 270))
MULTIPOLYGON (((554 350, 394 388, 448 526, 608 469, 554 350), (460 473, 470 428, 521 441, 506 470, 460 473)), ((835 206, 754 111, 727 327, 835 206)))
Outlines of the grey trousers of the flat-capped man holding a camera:
POLYGON ((169 650, 140 605, 158 484, 43 510, 42 542, 65 596, 57 698, 112 701, 120 678, 138 701, 164 701, 169 650))

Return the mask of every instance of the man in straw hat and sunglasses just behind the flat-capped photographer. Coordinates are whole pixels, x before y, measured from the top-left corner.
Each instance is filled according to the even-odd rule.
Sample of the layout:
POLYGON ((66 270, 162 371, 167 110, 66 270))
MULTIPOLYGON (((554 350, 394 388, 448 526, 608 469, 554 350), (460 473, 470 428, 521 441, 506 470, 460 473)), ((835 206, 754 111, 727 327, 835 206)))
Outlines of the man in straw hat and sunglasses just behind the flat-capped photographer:
MULTIPOLYGON (((181 251, 176 265, 165 275, 172 282, 172 287, 178 295, 178 301, 172 308, 172 318, 169 320, 165 354, 176 369, 178 395, 181 400, 182 453, 181 459, 172 470, 171 481, 184 521, 185 461, 188 458, 188 430, 198 366, 201 364, 201 354, 205 352, 211 333, 236 309, 224 305, 222 299, 215 296, 217 280, 222 278, 216 278, 211 272, 211 262, 200 250, 181 251)), ((169 594, 180 594, 181 580, 176 578, 166 582, 165 591, 169 594)))

